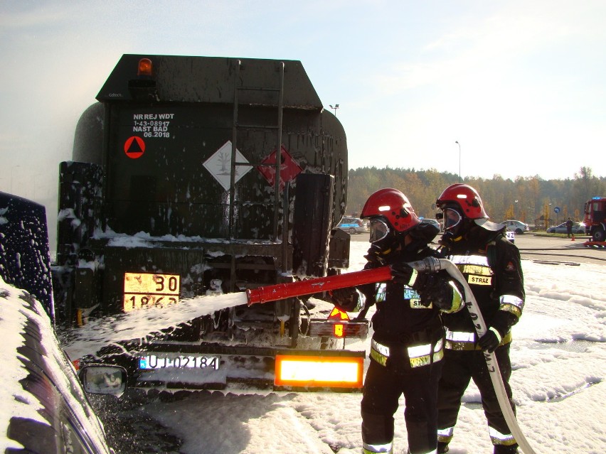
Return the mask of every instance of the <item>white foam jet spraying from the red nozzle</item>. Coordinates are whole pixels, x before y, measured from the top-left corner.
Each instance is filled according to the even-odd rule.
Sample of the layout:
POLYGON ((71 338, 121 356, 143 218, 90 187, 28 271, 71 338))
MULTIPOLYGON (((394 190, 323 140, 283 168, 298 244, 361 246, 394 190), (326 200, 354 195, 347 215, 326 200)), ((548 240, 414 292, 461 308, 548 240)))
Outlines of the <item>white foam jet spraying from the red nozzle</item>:
POLYGON ((107 345, 141 339, 194 318, 247 303, 244 292, 197 296, 181 300, 179 304, 169 308, 133 310, 90 320, 83 327, 71 330, 65 336, 64 349, 71 360, 77 360, 85 355, 93 355, 107 345))

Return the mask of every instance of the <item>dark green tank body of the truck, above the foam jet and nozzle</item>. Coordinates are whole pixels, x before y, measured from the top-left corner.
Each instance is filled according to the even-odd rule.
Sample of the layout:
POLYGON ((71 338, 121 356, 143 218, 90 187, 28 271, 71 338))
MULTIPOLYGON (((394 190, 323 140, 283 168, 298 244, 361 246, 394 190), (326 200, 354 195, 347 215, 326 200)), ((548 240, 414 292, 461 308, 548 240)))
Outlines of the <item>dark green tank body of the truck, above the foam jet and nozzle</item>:
POLYGON ((60 168, 65 320, 121 311, 125 272, 179 274, 184 298, 348 265, 346 136, 299 61, 123 55, 97 101, 60 168))

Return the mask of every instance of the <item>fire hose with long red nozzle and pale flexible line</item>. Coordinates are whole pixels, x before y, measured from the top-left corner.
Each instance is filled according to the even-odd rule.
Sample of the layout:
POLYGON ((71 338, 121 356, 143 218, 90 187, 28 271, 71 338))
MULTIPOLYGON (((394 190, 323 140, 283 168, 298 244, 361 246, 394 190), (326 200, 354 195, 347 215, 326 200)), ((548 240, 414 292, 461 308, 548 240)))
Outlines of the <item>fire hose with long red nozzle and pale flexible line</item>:
MULTIPOLYGON (((487 325, 484 322, 482 313, 477 305, 476 298, 472 293, 469 284, 465 281, 463 275, 452 261, 447 259, 436 259, 435 257, 427 257, 422 260, 409 262, 408 265, 421 273, 437 273, 437 271, 445 270, 453 279, 456 279, 464 289, 465 307, 469 311, 469 316, 474 322, 474 328, 478 339, 487 332, 487 325)), ((248 306, 256 303, 267 303, 268 301, 276 301, 284 298, 293 298, 296 296, 311 295, 321 291, 335 290, 336 288, 346 288, 352 286, 361 286, 366 283, 376 283, 390 281, 391 269, 389 266, 381 266, 379 268, 368 269, 363 271, 354 271, 353 273, 337 274, 335 276, 326 276, 316 279, 308 279, 307 281, 298 281, 292 283, 280 283, 274 286, 263 286, 259 288, 248 289, 246 298, 248 306)), ((507 426, 514 436, 521 450, 526 454, 536 454, 531 445, 526 440, 526 437, 521 431, 521 428, 516 420, 516 415, 511 409, 509 398, 505 391, 501 370, 496 362, 494 352, 484 352, 484 360, 490 373, 490 379, 496 399, 499 401, 501 412, 505 418, 507 426)))

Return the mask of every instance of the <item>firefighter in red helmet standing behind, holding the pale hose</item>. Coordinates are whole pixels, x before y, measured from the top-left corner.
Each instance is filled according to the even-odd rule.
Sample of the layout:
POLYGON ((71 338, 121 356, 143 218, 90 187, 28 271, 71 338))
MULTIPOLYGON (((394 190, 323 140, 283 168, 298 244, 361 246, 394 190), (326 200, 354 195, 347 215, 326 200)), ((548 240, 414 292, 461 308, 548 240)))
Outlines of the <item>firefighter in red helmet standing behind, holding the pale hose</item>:
POLYGON ((471 379, 482 396, 494 454, 517 453, 518 445, 507 426, 483 350, 494 352, 511 408, 511 326, 524 305, 523 274, 518 248, 508 239, 505 225, 489 221, 477 190, 457 183, 436 201, 444 218, 440 240, 442 256, 457 265, 474 293, 489 330, 480 339, 467 310, 445 314, 446 342, 438 389, 437 452, 446 453, 457 422, 461 398, 471 379))

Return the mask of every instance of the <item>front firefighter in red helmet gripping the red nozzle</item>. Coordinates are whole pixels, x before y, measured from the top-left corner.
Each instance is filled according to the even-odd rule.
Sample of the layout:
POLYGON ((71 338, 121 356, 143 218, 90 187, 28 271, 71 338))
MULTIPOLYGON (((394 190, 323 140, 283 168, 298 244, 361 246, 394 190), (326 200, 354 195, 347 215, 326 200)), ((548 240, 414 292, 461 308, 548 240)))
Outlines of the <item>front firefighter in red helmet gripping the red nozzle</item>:
MULTIPOLYGON (((393 276, 386 283, 358 287, 366 308, 376 303, 361 402, 363 453, 393 453, 393 415, 402 394, 408 452, 435 453, 444 344, 440 310, 459 310, 461 293, 445 272, 418 273, 408 266, 437 255, 428 244, 438 229, 419 220, 403 193, 378 190, 366 201, 361 217, 370 220, 371 228, 365 269, 388 265, 393 276)), ((359 293, 341 288, 332 296, 337 306, 353 310, 359 293)))

